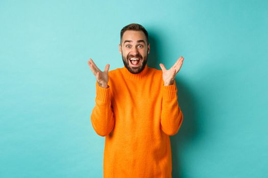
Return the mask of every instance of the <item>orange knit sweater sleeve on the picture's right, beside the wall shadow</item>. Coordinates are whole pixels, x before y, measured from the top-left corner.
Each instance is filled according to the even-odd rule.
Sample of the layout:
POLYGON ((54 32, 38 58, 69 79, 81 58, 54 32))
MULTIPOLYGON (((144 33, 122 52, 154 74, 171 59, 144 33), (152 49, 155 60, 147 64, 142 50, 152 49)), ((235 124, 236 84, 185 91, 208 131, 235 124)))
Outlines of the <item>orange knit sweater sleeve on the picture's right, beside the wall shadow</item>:
POLYGON ((177 100, 176 83, 174 81, 172 85, 162 85, 162 87, 161 129, 167 135, 175 135, 183 121, 183 114, 177 100))

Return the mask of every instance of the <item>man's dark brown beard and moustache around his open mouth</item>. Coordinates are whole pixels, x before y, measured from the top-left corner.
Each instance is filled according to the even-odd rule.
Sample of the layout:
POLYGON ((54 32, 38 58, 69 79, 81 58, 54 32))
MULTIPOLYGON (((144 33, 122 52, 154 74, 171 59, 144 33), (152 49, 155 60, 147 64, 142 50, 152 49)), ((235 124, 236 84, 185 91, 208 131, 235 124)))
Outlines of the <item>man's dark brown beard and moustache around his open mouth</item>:
POLYGON ((137 55, 127 55, 127 57, 124 57, 123 56, 123 51, 122 51, 122 59, 123 59, 123 63, 125 65, 125 67, 128 69, 128 71, 132 74, 138 74, 140 73, 144 68, 145 68, 145 65, 147 64, 147 57, 148 57, 148 52, 147 52, 147 55, 142 57, 142 55, 140 55, 140 53, 138 53, 137 55), (132 58, 132 57, 138 57, 140 58, 140 63, 141 65, 139 67, 130 67, 129 65, 129 59, 132 58))

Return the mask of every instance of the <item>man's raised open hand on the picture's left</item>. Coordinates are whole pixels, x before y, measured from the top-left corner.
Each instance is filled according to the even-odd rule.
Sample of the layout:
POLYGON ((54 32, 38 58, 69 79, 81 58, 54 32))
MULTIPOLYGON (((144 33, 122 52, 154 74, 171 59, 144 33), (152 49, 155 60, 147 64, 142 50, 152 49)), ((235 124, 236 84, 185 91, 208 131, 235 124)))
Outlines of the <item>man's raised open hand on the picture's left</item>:
POLYGON ((108 80, 109 80, 109 76, 108 76, 108 70, 110 65, 107 64, 105 66, 104 71, 102 72, 96 65, 95 63, 92 61, 91 58, 89 58, 89 61, 87 62, 90 70, 92 71, 92 73, 95 75, 96 80, 99 83, 99 86, 104 87, 104 88, 108 88, 108 80))

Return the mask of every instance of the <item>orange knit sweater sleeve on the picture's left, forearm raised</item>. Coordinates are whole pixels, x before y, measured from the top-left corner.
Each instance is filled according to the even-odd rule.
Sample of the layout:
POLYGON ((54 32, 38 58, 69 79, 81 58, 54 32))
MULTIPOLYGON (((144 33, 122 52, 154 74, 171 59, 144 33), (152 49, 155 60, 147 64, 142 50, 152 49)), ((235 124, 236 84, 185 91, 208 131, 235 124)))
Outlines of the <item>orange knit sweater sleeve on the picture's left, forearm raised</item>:
POLYGON ((103 88, 96 82, 95 106, 91 113, 91 124, 100 136, 108 135, 114 126, 110 86, 103 88))

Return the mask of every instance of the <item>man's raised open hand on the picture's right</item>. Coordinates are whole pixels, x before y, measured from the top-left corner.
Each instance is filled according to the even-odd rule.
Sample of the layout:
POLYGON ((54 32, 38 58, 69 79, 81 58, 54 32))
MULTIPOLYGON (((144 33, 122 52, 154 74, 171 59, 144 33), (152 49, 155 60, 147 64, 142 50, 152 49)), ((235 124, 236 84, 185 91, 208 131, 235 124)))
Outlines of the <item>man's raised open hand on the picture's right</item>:
POLYGON ((180 71, 184 58, 180 57, 177 62, 168 70, 166 70, 163 64, 159 64, 163 72, 164 85, 172 85, 176 74, 180 71))

